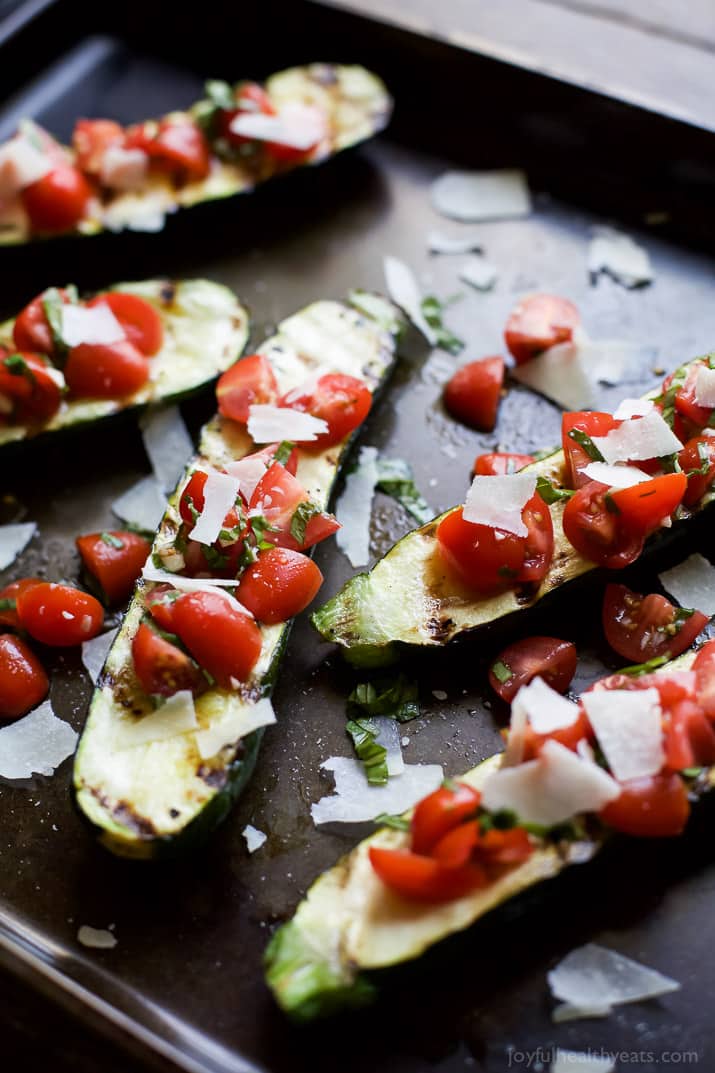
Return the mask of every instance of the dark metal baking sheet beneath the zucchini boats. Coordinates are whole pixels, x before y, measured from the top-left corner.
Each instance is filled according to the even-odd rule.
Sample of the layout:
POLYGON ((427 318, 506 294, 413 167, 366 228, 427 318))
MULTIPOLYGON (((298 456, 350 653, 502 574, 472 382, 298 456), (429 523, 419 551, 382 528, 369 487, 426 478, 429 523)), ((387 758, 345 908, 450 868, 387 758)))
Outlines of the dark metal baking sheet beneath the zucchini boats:
MULTIPOLYGON (((151 21, 158 5, 146 6, 151 21)), ((272 11, 266 19, 276 9, 288 11, 267 6, 272 11)), ((672 368, 712 348, 713 261, 678 240, 690 235, 690 218, 685 214, 681 219, 678 206, 700 204, 702 191, 688 188, 685 180, 661 182, 658 204, 673 214, 670 237, 653 229, 638 230, 634 222, 642 219, 644 203, 654 207, 653 189, 644 191, 638 170, 624 158, 622 182, 617 190, 603 185, 599 212, 595 170, 604 174, 608 167, 617 170, 616 164, 597 164, 587 147, 574 157, 568 136, 583 129, 584 117, 594 122, 598 99, 567 86, 529 83, 532 92, 514 91, 505 105, 504 126, 487 117, 480 134, 473 118, 467 144, 464 122, 462 134, 458 124, 435 126, 427 101, 423 134, 418 136, 418 105, 424 102, 407 95, 418 65, 441 87, 434 94, 438 103, 449 95, 451 74, 463 88, 471 71, 475 93, 483 92, 493 65, 485 69, 475 57, 436 46, 433 50, 429 43, 396 31, 385 35, 377 28, 373 36, 364 30, 347 45, 347 30, 358 23, 347 17, 342 21, 335 13, 323 17, 319 8, 303 3, 286 14, 288 21, 298 21, 296 9, 305 14, 308 29, 322 27, 316 31, 322 34, 322 47, 311 56, 304 30, 303 36, 296 34, 292 60, 321 54, 373 59, 397 99, 392 132, 324 167, 273 183, 250 202, 238 199, 184 214, 159 236, 100 237, 3 251, 6 311, 43 286, 70 279, 99 288, 112 279, 155 273, 205 274, 234 288, 248 304, 258 339, 281 317, 317 297, 339 297, 354 285, 381 288, 382 258, 392 253, 417 269, 425 291, 440 297, 463 293, 450 308, 448 322, 467 340, 466 356, 499 352, 509 309, 519 295, 534 289, 571 297, 595 337, 652 346, 652 361, 623 394, 651 386, 658 379, 655 368, 672 368), (368 40, 374 54, 356 55, 368 40), (544 127, 548 109, 539 109, 556 107, 558 101, 564 136, 556 137, 553 127, 544 127), (429 116, 433 120, 427 121, 429 116), (521 130, 522 139, 509 138, 509 130, 521 130), (546 134, 539 133, 544 130, 546 134), (550 159, 544 162, 538 148, 546 143, 550 159), (431 258, 426 252, 432 227, 456 230, 434 216, 428 199, 431 180, 455 161, 529 166, 531 217, 473 229, 499 270, 490 294, 457 282, 459 258, 431 258), (626 291, 609 280, 589 282, 589 227, 613 222, 614 216, 628 221, 630 233, 651 253, 656 271, 651 286, 626 291)), ((97 29, 104 28, 98 24, 97 29)), ((280 65, 269 62, 269 49, 264 48, 256 68, 251 55, 234 56, 231 71, 225 56, 211 67, 210 52, 201 50, 201 33, 193 68, 183 55, 172 63, 160 50, 138 54, 129 16, 116 33, 121 40, 100 34, 68 54, 58 36, 50 79, 40 77, 29 90, 40 121, 46 118, 64 135, 71 119, 83 113, 108 111, 129 121, 164 107, 167 87, 176 89, 180 101, 189 100, 200 86, 200 73, 237 75, 248 69, 260 76, 280 65)), ((284 41, 281 49, 287 49, 284 41)), ((521 87, 523 75, 505 69, 499 78, 521 87)), ((607 123, 615 105, 602 101, 600 106, 607 123)), ((8 115, 16 109, 17 100, 8 115)), ((622 118, 634 124, 638 117, 624 106, 622 118)), ((598 123, 596 128, 600 130, 598 123)), ((640 129, 646 143, 652 137, 665 153, 659 132, 661 142, 682 150, 682 159, 697 153, 700 145, 697 131, 675 129, 665 120, 659 127, 657 117, 643 115, 640 129)), ((713 225, 712 205, 709 211, 703 234, 713 225)), ((386 455, 409 458, 435 512, 462 499, 480 451, 497 445, 529 451, 559 438, 558 410, 515 387, 501 406, 493 435, 453 423, 439 399, 455 364, 440 351, 428 355, 418 338, 410 338, 392 388, 360 439, 386 455)), ((210 410, 210 398, 185 407, 194 431, 210 410)), ((28 573, 76 577, 74 536, 107 526, 112 499, 147 470, 138 432, 129 420, 67 437, 52 452, 30 447, 15 455, 2 467, 2 519, 32 518, 41 539, 2 580, 28 573)), ((407 528, 402 510, 379 498, 373 556, 386 550, 407 528)), ((660 564, 677 561, 696 547, 707 552, 709 546, 709 529, 699 524, 662 554, 660 564)), ((325 574, 322 599, 336 591, 351 570, 335 546, 322 546, 318 562, 325 574)), ((651 584, 656 565, 631 571, 632 585, 651 584)), ((484 667, 505 635, 513 638, 538 629, 575 640, 583 657, 577 686, 614 666, 599 629, 600 594, 599 585, 585 584, 523 623, 511 622, 506 631, 495 629, 449 651, 408 659, 408 671, 419 677, 423 714, 405 729, 410 739, 406 760, 438 761, 452 775, 498 746, 504 712, 491 703, 484 667), (437 700, 434 690, 444 691, 448 699, 437 700)), ((316 832, 309 815, 310 803, 330 792, 320 763, 350 752, 344 699, 354 681, 355 675, 319 642, 303 617, 275 693, 279 724, 266 735, 247 793, 203 852, 174 864, 121 862, 99 849, 73 810, 69 763, 52 779, 2 783, 3 962, 64 1001, 77 1016, 102 1025, 145 1055, 189 1070, 501 1073, 546 1063, 544 1055, 555 1045, 655 1056, 643 1058, 642 1069, 658 1068, 665 1052, 697 1053, 699 1068, 710 1068, 712 1026, 702 996, 715 988, 715 968, 703 939, 710 934, 715 867, 705 837, 712 812, 707 806, 692 831, 676 842, 616 847, 487 917, 419 964, 392 972, 377 1008, 307 1029, 286 1024, 263 985, 261 955, 274 924, 354 841, 353 835, 316 832), (268 834, 267 843, 253 856, 240 835, 247 823, 268 834), (108 952, 85 950, 76 941, 81 924, 112 925, 118 945, 108 952), (624 1008, 608 1020, 552 1025, 545 972, 568 950, 588 940, 653 965, 682 981, 683 989, 662 1003, 624 1008)), ((89 695, 78 656, 59 652, 53 667, 56 710, 79 729, 89 695)))

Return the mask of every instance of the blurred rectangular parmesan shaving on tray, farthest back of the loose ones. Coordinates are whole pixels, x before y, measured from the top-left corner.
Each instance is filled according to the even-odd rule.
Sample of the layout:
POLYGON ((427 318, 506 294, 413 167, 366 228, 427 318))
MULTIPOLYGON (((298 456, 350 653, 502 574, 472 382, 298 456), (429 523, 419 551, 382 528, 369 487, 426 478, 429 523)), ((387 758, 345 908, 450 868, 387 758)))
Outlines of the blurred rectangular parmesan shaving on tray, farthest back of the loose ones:
POLYGON ((432 203, 452 220, 509 220, 531 211, 526 175, 517 168, 446 172, 432 185, 432 203))

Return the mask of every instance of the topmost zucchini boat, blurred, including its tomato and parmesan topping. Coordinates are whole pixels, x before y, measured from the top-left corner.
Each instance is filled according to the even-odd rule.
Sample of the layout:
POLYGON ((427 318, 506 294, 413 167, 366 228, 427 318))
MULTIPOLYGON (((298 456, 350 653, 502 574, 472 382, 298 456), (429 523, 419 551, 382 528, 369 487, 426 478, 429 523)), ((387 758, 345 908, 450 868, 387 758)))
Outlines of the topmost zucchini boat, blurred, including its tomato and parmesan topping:
POLYGON ((382 82, 356 65, 311 63, 257 83, 208 82, 187 112, 126 130, 78 120, 64 149, 26 121, 0 147, 0 245, 58 234, 160 231, 167 214, 247 193, 385 127, 382 82), (232 123, 248 123, 246 133, 232 123), (55 181, 61 172, 63 181, 55 181))

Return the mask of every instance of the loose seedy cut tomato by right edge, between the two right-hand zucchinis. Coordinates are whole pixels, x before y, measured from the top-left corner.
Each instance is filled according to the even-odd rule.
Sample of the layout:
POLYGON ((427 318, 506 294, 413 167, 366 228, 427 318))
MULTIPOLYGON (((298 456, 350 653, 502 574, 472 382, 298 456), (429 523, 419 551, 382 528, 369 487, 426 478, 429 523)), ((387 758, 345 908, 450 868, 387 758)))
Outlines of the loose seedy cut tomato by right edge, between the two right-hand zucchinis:
POLYGON ((615 584, 605 587, 601 618, 609 645, 631 663, 680 656, 707 623, 702 612, 683 612, 658 592, 641 596, 615 584))

